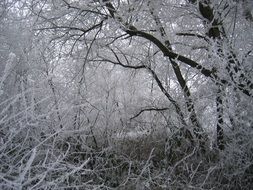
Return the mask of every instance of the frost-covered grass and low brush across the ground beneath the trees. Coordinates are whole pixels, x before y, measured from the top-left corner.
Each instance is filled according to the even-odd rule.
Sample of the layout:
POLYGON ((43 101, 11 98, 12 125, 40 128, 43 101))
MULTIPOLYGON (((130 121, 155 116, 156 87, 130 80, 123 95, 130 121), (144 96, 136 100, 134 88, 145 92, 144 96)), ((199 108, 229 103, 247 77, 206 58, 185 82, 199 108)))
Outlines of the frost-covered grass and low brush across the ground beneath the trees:
POLYGON ((244 134, 247 141, 228 142, 224 152, 210 148, 203 152, 183 137, 177 142, 176 134, 153 132, 135 138, 130 135, 94 148, 94 142, 83 138, 85 132, 68 136, 64 130, 44 131, 41 136, 38 128, 20 127, 15 132, 1 131, 1 189, 250 189, 252 186, 252 134, 244 134))

